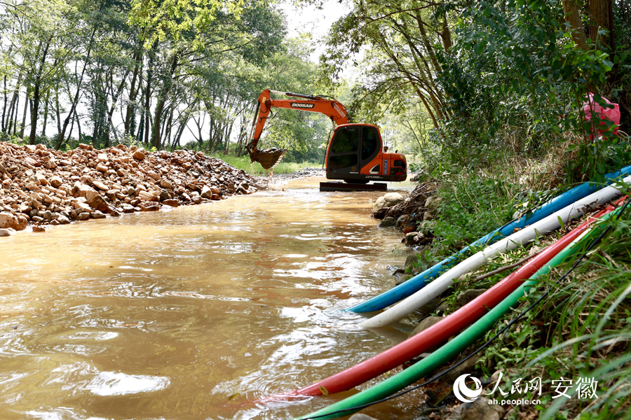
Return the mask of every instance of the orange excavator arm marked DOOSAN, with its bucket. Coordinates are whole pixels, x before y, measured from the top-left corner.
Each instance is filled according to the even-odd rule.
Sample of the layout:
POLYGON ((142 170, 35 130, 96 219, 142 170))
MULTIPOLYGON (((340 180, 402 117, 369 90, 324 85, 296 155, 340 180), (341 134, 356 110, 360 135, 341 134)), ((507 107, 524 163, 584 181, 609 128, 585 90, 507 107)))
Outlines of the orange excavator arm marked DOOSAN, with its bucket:
POLYGON ((265 169, 271 169, 278 165, 287 149, 261 151, 257 148, 263 128, 271 114, 272 108, 295 109, 298 111, 308 111, 323 113, 331 118, 334 125, 348 124, 346 107, 335 99, 326 99, 321 96, 299 94, 292 92, 277 92, 276 90, 264 90, 259 95, 259 102, 252 121, 252 131, 250 142, 247 144, 247 153, 250 154, 252 162, 259 162, 265 169), (271 93, 284 94, 287 97, 300 99, 271 99, 271 93))

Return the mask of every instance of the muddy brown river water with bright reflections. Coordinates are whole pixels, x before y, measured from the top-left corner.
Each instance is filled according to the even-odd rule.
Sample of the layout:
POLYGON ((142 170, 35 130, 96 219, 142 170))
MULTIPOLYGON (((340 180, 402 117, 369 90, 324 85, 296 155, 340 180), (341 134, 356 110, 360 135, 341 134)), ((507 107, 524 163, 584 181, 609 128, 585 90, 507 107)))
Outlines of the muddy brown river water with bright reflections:
POLYGON ((257 402, 407 337, 344 311, 407 256, 370 216, 383 193, 319 181, 1 238, 0 419, 276 420, 342 398, 257 402))

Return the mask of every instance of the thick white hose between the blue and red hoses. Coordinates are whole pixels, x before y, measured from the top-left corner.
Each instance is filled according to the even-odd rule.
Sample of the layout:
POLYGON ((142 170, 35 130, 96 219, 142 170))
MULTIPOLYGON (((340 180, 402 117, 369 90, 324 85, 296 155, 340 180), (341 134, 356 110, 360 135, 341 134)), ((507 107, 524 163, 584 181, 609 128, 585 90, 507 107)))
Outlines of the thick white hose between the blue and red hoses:
MULTIPOLYGON (((631 176, 627 176, 624 179, 624 182, 631 183, 631 176)), ((390 309, 381 312, 381 314, 363 321, 360 323, 360 326, 364 328, 386 327, 391 323, 404 318, 447 290, 447 288, 452 285, 454 279, 458 279, 459 276, 484 265, 487 260, 493 258, 498 253, 503 253, 507 250, 517 248, 517 246, 522 244, 526 244, 532 239, 535 239, 538 235, 545 235, 552 232, 552 230, 558 229, 561 226, 559 220, 563 221, 563 223, 568 223, 571 219, 581 216, 585 207, 591 208, 597 206, 598 204, 610 202, 621 194, 622 193, 616 188, 605 187, 602 190, 599 190, 592 195, 588 195, 582 200, 578 200, 577 202, 574 202, 574 204, 570 204, 568 207, 543 218, 541 221, 538 221, 533 225, 526 226, 522 230, 513 233, 513 235, 501 239, 495 244, 484 248, 484 250, 471 255, 459 265, 456 265, 449 271, 445 272, 445 274, 442 274, 442 276, 414 293, 414 295, 410 295, 390 309)))

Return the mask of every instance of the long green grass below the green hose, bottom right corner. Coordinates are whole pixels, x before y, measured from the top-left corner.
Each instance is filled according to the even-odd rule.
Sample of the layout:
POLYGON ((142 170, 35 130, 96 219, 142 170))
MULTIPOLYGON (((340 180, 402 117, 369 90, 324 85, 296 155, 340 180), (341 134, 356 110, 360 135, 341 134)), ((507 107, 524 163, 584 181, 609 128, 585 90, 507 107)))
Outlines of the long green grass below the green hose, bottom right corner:
MULTIPOLYGON (((550 295, 524 321, 491 344, 479 362, 487 374, 502 370, 510 379, 543 377, 541 399, 545 403, 537 407, 542 419, 567 418, 568 410, 573 410, 572 418, 578 414, 581 419, 623 419, 629 413, 630 212, 627 210, 620 220, 611 218, 601 223, 603 228, 606 225, 612 229, 597 251, 592 251, 588 260, 562 283, 556 283, 556 279, 573 260, 541 279, 541 286, 531 290, 517 310, 529 306, 545 290, 550 290, 550 295), (568 404, 571 400, 566 398, 553 400, 550 382, 559 377, 575 381, 578 377, 594 377, 599 398, 578 405, 568 404)), ((512 316, 509 314, 507 319, 512 316)), ((485 339, 503 325, 498 323, 485 339)), ((573 390, 576 388, 569 390, 569 395, 573 390)))

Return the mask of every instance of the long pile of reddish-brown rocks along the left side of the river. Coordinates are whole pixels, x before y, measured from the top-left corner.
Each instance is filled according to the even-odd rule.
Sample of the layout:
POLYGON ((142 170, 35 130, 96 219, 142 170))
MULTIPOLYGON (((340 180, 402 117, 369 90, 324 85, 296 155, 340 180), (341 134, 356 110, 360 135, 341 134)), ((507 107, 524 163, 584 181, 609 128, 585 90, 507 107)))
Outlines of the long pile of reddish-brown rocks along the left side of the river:
POLYGON ((261 188, 255 179, 202 152, 147 153, 119 144, 81 144, 62 153, 42 144, 0 142, 0 236, 88 218, 200 204, 261 188))

